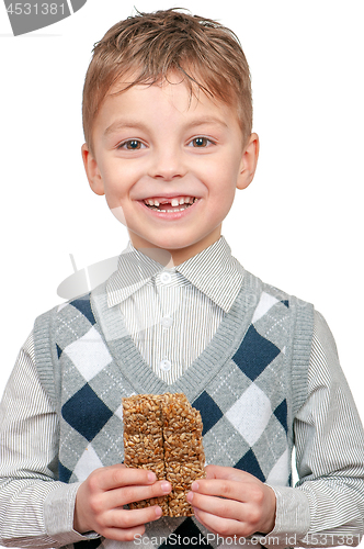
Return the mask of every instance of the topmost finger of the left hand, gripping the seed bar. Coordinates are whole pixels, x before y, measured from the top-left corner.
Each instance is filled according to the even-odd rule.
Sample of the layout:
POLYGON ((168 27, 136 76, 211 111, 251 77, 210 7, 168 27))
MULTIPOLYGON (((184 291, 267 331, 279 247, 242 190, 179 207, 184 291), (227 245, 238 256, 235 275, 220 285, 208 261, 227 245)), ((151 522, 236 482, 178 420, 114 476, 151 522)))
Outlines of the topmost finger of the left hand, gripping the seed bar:
POLYGON ((98 469, 90 475, 91 484, 101 491, 133 484, 152 484, 156 480, 157 477, 152 471, 127 468, 124 464, 98 469))

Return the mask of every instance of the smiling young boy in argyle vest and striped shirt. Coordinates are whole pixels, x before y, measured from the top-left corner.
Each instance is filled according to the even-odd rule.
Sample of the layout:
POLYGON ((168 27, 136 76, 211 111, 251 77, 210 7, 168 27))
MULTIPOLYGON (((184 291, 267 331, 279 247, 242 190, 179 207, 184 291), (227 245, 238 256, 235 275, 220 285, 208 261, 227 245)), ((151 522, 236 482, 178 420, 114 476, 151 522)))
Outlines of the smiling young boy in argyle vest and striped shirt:
POLYGON ((83 124, 90 186, 130 245, 20 352, 2 402, 1 544, 357 545, 364 436, 332 336, 221 237, 259 152, 237 38, 173 10, 118 23, 94 48, 83 124), (122 464, 122 397, 168 391, 204 422, 193 518, 126 508, 171 485, 122 464))

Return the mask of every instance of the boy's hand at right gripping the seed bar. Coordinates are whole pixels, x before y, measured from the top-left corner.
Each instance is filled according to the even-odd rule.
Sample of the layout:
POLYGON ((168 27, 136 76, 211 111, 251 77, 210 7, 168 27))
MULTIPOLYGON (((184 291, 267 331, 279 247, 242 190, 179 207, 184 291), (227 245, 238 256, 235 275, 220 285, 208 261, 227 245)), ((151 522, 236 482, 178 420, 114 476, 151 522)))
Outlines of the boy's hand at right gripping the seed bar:
POLYGON ((206 479, 193 482, 187 501, 196 518, 223 537, 269 534, 275 522, 275 494, 252 474, 232 467, 206 467, 206 479))

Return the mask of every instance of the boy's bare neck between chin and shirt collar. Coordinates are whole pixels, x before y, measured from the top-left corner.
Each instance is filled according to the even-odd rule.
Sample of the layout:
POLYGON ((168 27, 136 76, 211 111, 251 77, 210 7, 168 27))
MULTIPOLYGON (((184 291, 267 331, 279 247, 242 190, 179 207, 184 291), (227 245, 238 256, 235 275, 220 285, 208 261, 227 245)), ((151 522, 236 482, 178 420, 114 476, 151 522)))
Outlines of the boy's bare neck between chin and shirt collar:
MULTIPOLYGON (((153 246, 151 243, 145 240, 139 235, 136 235, 135 233, 132 233, 130 231, 129 231, 129 236, 130 236, 130 240, 132 240, 133 246, 136 249, 139 249, 140 251, 146 254, 147 256, 149 256, 149 254, 147 251, 148 249, 150 249, 150 251, 151 251, 150 256, 152 256, 152 257, 156 256, 156 254, 152 253, 153 249, 156 251, 158 249, 161 250, 161 248, 159 248, 158 246, 153 246)), ((170 254, 171 258, 170 258, 168 265, 166 265, 166 261, 162 261, 162 262, 163 262, 163 265, 166 265, 166 267, 168 269, 172 268, 172 267, 177 267, 178 265, 183 264, 184 261, 186 261, 191 257, 194 257, 197 254, 200 254, 201 251, 203 251, 204 249, 208 248, 208 246, 212 246, 212 244, 217 242, 220 236, 221 236, 221 227, 219 226, 219 227, 216 227, 216 229, 213 233, 207 235, 206 238, 203 238, 202 240, 198 240, 197 243, 193 243, 190 246, 186 246, 184 248, 177 248, 177 249, 164 249, 163 248, 163 251, 168 251, 168 254, 170 254)))

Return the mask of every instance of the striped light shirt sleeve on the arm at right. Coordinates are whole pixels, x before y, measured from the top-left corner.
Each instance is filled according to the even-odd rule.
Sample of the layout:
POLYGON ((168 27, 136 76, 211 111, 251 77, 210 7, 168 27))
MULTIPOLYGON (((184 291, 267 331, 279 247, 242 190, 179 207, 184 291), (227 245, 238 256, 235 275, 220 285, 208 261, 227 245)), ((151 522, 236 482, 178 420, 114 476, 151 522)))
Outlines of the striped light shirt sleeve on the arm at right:
MULTIPOLYGON (((356 546, 364 525, 364 433, 340 368, 335 343, 319 313, 308 370, 308 397, 294 421, 298 482, 272 486, 277 546, 356 546)), ((271 545, 268 541, 268 545, 271 545)))

